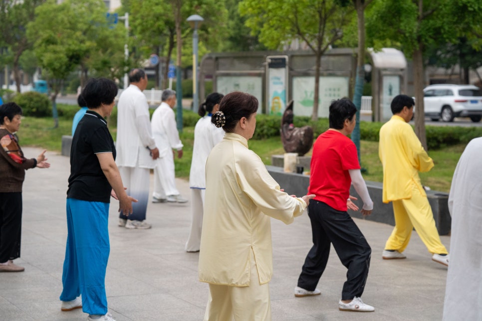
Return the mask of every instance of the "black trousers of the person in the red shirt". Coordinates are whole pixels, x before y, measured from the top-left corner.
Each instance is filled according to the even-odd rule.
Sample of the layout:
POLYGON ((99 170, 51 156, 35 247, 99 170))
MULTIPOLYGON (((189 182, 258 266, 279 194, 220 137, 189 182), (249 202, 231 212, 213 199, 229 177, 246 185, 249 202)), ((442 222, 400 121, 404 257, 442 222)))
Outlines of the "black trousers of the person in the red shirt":
POLYGON ((306 256, 298 287, 313 291, 328 262, 330 244, 333 244, 341 263, 348 269, 341 300, 361 297, 367 281, 372 250, 358 226, 345 211, 310 200, 308 216, 311 220, 313 247, 306 256))

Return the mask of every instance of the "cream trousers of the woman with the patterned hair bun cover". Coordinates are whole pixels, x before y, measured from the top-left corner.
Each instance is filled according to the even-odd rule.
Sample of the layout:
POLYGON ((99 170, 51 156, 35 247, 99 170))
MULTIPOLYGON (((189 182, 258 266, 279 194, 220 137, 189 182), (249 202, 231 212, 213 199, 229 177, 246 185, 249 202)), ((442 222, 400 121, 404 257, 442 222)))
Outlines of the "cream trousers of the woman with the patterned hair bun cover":
POLYGON ((251 277, 248 287, 210 284, 204 321, 270 321, 268 283, 259 284, 251 251, 251 277))

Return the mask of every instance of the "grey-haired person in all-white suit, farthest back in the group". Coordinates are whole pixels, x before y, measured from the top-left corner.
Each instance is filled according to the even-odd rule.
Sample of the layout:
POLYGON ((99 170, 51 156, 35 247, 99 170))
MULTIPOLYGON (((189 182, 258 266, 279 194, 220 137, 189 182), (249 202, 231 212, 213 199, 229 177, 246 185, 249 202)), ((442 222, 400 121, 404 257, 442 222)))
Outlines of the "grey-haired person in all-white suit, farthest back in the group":
POLYGON ((186 203, 176 187, 174 171, 174 150, 178 158, 183 157, 183 143, 179 139, 176 127, 176 116, 173 108, 176 105, 176 92, 165 89, 161 95, 161 105, 154 111, 151 119, 152 135, 159 147, 159 159, 154 167, 153 203, 178 202, 186 203))

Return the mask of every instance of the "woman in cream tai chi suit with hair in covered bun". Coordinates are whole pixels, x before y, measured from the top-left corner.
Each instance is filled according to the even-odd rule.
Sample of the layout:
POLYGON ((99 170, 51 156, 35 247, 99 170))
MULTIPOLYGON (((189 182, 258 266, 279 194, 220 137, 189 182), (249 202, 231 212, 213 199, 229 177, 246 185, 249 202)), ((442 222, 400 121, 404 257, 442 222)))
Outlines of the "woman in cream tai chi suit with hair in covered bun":
POLYGON ((199 279, 209 283, 205 321, 271 320, 270 217, 289 224, 314 197, 283 192, 248 149, 257 108, 254 96, 232 92, 212 117, 226 134, 206 163, 199 255, 199 279))

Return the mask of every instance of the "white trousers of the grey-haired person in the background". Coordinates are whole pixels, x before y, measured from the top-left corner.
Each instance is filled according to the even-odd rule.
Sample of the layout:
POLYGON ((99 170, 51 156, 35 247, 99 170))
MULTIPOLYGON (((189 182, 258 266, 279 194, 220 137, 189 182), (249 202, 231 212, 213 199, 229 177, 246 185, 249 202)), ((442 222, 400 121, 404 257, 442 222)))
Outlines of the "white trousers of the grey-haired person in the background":
POLYGON ((158 158, 156 167, 154 167, 154 192, 152 196, 166 198, 166 195, 179 195, 179 190, 176 188, 174 156, 172 153, 158 158))

